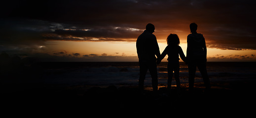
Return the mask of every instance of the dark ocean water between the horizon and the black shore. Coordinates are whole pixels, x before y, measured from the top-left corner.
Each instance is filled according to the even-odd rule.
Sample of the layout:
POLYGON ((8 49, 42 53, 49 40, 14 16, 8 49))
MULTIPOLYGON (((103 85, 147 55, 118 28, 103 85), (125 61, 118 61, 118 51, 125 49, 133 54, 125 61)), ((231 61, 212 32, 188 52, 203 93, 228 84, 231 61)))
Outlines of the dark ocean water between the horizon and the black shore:
MULTIPOLYGON (((157 66, 158 87, 167 86, 167 63, 157 66)), ((41 78, 46 85, 62 87, 123 87, 138 86, 139 62, 41 62, 41 78)), ((230 85, 256 80, 256 62, 207 62, 212 88, 232 89, 230 85)), ((188 68, 180 62, 180 81, 188 87, 188 68)), ((175 79, 172 87, 176 86, 175 79)), ((195 88, 203 88, 200 72, 196 71, 195 88)), ((151 89, 151 76, 146 74, 145 88, 151 89)))

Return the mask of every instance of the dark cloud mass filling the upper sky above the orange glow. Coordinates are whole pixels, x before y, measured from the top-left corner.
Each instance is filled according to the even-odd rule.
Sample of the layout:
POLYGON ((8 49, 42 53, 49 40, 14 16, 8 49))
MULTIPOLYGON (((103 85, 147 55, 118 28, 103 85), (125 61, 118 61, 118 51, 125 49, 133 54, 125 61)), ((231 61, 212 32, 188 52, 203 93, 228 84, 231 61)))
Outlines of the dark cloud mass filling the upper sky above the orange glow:
POLYGON ((208 47, 256 50, 255 0, 16 0, 1 7, 0 49, 40 52, 45 40, 135 41, 147 23, 185 42, 198 24, 208 47))

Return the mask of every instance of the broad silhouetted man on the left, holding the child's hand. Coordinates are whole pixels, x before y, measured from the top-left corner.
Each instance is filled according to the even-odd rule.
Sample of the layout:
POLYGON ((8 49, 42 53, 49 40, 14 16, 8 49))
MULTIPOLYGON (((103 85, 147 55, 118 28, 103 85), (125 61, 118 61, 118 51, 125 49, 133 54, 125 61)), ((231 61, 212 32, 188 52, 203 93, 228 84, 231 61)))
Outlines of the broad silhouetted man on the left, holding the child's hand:
POLYGON ((156 91, 158 89, 158 80, 155 55, 159 58, 160 51, 156 37, 152 34, 154 30, 155 27, 153 24, 147 24, 146 30, 144 30, 136 41, 136 48, 140 63, 139 88, 143 89, 146 72, 149 70, 152 78, 152 88, 156 91))

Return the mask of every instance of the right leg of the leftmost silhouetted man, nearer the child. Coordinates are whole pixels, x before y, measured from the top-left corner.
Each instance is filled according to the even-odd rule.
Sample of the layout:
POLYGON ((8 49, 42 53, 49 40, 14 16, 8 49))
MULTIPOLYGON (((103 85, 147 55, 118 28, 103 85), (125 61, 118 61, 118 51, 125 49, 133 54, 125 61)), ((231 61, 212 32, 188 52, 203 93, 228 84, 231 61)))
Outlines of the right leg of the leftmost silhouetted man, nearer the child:
POLYGON ((156 62, 149 62, 148 69, 152 78, 152 88, 154 91, 158 90, 158 76, 157 76, 157 68, 156 62))

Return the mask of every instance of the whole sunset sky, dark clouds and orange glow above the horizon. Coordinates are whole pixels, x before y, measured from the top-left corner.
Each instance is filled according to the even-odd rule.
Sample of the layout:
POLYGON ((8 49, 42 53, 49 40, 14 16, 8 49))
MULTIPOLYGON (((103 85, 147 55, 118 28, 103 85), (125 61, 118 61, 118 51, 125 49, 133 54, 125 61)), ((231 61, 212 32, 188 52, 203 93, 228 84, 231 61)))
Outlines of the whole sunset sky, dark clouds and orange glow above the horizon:
MULTIPOLYGON (((208 61, 256 61, 255 0, 8 0, 1 3, 0 53, 42 61, 138 61, 146 24, 162 53, 170 33, 186 55, 198 25, 208 61)), ((167 61, 164 59, 163 61, 167 61)))

